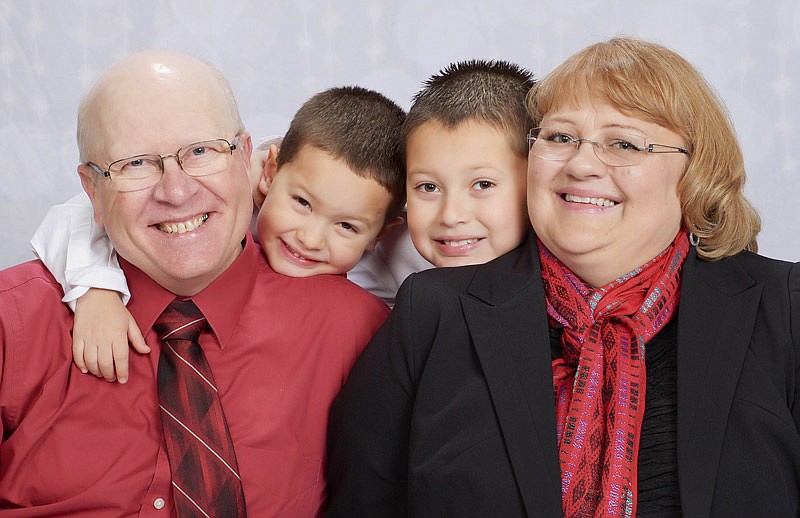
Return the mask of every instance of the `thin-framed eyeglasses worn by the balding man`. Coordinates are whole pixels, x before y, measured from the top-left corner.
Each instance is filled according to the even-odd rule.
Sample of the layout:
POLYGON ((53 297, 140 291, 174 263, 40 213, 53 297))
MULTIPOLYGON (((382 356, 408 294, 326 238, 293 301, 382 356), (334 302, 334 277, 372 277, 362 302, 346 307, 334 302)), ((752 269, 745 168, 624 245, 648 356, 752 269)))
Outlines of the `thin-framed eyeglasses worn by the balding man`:
POLYGON ((204 140, 183 146, 168 155, 135 155, 111 162, 103 170, 95 163, 86 165, 106 178, 121 192, 139 191, 157 184, 164 174, 164 160, 174 158, 189 176, 209 176, 221 173, 230 163, 233 150, 239 146, 239 135, 231 142, 225 139, 204 140))

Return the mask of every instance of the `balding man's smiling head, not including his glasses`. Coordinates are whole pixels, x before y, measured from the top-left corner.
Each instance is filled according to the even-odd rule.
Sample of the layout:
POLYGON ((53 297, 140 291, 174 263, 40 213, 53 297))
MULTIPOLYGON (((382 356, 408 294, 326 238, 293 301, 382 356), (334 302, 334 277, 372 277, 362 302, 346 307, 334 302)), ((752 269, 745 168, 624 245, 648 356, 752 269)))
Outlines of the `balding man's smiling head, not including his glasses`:
POLYGON ((204 289, 233 263, 253 210, 251 140, 219 72, 174 52, 134 54, 86 94, 78 127, 78 173, 95 220, 120 257, 184 296, 204 289), (223 139, 234 147, 219 157, 219 172, 190 176, 183 170, 179 149, 223 139), (128 158, 133 171, 145 154, 164 157, 155 184, 120 190, 119 178, 99 173, 128 158))

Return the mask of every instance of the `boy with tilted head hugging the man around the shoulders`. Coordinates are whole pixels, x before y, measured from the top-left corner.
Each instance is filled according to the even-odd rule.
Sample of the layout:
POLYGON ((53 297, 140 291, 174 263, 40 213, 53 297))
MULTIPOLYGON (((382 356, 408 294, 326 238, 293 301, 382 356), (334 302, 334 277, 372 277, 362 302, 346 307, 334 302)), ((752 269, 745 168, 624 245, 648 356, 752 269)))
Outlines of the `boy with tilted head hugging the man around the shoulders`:
MULTIPOLYGON (((280 149, 271 145, 266 156, 252 162, 254 200, 260 205, 257 226, 273 270, 292 277, 344 274, 401 222, 396 213, 404 199, 404 118, 399 106, 375 91, 332 88, 298 110, 280 149)), ((70 226, 70 213, 91 223, 86 214, 90 211, 90 206, 75 204, 54 207, 32 245, 55 270, 65 291, 74 289, 65 271, 83 272, 78 277, 84 288, 78 288, 74 308, 73 355, 78 367, 124 383, 128 341, 142 353, 149 347, 115 293, 127 293, 127 286, 121 273, 109 274, 119 268, 108 238, 99 232, 87 238, 89 225, 83 230, 65 228, 70 226), (68 243, 63 243, 65 234, 68 243), (92 249, 80 250, 77 265, 65 257, 76 243, 92 249), (90 286, 105 289, 86 293, 90 286)))

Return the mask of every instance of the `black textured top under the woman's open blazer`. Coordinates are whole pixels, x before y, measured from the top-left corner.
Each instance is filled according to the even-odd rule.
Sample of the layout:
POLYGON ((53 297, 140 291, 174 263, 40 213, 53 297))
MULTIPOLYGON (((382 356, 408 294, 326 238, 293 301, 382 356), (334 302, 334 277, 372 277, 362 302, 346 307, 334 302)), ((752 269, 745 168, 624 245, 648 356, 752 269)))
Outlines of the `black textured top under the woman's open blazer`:
MULTIPOLYGON (((642 518, 682 516, 678 491, 678 325, 673 318, 645 348, 646 390, 639 442, 639 498, 642 518)), ((551 329, 553 358, 561 357, 561 329, 551 329)))

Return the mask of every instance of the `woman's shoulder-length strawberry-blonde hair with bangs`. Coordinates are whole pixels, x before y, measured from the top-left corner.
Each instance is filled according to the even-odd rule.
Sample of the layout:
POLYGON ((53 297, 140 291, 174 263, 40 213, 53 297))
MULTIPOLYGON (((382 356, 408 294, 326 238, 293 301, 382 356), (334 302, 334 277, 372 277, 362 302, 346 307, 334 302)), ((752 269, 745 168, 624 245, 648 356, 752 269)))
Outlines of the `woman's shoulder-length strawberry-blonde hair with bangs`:
POLYGON ((661 45, 613 38, 567 59, 528 94, 535 124, 581 95, 674 131, 690 152, 678 183, 683 223, 708 260, 757 251, 761 220, 745 198, 744 158, 730 117, 700 72, 661 45))

